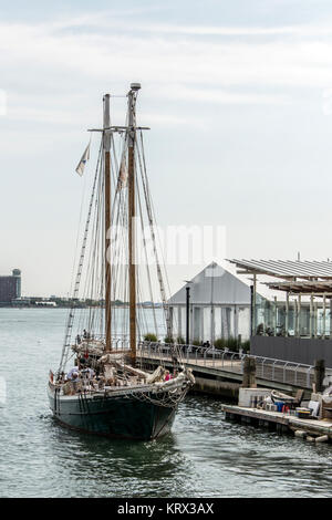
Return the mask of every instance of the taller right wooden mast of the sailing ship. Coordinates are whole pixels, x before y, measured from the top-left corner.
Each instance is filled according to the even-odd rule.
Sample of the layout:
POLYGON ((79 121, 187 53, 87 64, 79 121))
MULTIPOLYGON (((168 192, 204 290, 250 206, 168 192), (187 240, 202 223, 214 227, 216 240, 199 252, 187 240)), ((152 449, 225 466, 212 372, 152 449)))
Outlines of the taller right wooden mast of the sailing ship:
POLYGON ((136 259, 135 259, 135 105, 139 83, 132 83, 128 92, 128 262, 129 262, 129 337, 131 362, 136 362, 136 259))

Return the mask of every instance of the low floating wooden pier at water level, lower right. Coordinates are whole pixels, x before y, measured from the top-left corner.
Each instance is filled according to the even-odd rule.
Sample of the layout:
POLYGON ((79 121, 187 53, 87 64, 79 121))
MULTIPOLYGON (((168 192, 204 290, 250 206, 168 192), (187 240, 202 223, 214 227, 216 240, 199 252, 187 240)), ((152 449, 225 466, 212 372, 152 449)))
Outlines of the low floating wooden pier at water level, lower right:
POLYGON ((260 426, 279 433, 294 433, 298 437, 313 441, 332 440, 332 420, 301 419, 281 412, 222 405, 226 418, 246 425, 260 426))

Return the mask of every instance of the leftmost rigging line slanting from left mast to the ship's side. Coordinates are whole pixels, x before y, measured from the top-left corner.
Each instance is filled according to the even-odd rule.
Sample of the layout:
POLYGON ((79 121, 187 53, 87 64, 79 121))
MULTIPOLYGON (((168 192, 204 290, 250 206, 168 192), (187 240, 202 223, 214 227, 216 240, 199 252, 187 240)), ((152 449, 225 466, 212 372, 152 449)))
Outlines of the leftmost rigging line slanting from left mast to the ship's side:
MULTIPOLYGON (((96 180, 97 180, 97 177, 98 177, 98 167, 100 167, 101 155, 102 155, 102 143, 100 145, 97 165, 96 165, 96 169, 95 169, 95 175, 94 175, 94 180, 93 180, 93 188, 92 188, 92 194, 91 194, 91 199, 90 199, 90 205, 89 205, 89 212, 87 212, 87 218, 86 218, 86 223, 85 223, 85 229, 84 229, 84 235, 83 235, 83 243, 82 243, 82 248, 81 248, 79 268, 77 268, 76 279, 75 279, 75 284, 74 284, 74 298, 76 298, 76 294, 79 293, 79 288, 80 288, 80 281, 81 281, 81 274, 82 274, 82 268, 83 268, 83 261, 84 261, 84 254, 85 254, 86 237, 87 237, 87 232, 89 232, 92 205, 93 205, 93 200, 94 200, 94 196, 95 196, 96 180)), ((64 342, 63 342, 63 347, 62 347, 62 353, 61 353, 59 373, 61 373, 62 370, 63 370, 63 360, 64 360, 65 351, 69 350, 69 347, 70 347, 71 333, 72 333, 71 329, 72 329, 72 325, 73 325, 73 319, 74 319, 74 306, 72 304, 72 306, 70 309, 70 312, 68 314, 68 320, 66 320, 65 336, 64 336, 64 342)))

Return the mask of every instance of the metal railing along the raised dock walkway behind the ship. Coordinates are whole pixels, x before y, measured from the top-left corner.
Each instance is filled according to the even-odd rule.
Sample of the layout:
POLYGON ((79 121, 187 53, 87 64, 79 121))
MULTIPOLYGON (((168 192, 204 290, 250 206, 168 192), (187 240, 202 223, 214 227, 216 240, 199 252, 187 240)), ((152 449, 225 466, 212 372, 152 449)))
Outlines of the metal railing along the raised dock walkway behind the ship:
MULTIPOLYGON (((201 347, 196 345, 176 345, 180 352, 181 361, 191 367, 205 366, 234 374, 243 373, 246 357, 256 361, 256 377, 266 381, 276 381, 302 388, 312 388, 314 366, 294 363, 272 357, 251 355, 243 352, 231 352, 228 349, 201 347), (194 365, 194 366, 193 366, 194 365)), ((138 353, 145 358, 172 361, 173 345, 165 343, 142 342, 138 353)), ((326 372, 332 373, 331 368, 326 372)))

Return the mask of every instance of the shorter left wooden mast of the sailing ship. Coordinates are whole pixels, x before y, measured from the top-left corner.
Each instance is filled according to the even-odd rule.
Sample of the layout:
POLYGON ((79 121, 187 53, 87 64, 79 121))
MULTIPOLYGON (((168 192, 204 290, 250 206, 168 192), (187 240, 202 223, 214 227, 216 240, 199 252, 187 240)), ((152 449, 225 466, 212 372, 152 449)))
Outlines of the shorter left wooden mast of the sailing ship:
POLYGON ((105 197, 105 352, 112 350, 111 339, 111 132, 105 128, 111 126, 110 94, 104 95, 104 124, 103 124, 103 149, 104 149, 104 197, 105 197))

